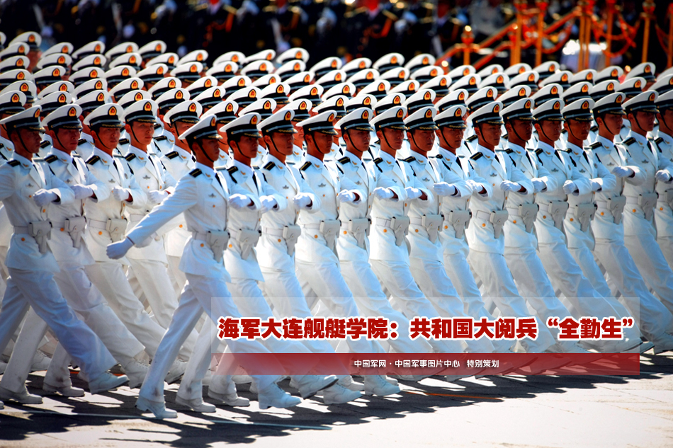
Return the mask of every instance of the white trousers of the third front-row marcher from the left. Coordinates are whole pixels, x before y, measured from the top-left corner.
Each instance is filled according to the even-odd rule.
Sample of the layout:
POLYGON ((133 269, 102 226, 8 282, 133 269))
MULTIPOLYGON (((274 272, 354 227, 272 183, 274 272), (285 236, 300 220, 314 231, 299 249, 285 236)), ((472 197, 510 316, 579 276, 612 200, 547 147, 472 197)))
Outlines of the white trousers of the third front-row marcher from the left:
MULTIPOLYGON (((122 265, 98 262, 86 266, 84 270, 126 328, 142 345, 145 345, 147 353, 154 357, 166 329, 147 314, 138 298, 135 297, 122 270, 122 265)), ((188 348, 183 348, 180 351, 180 357, 188 360, 190 353, 188 348)))

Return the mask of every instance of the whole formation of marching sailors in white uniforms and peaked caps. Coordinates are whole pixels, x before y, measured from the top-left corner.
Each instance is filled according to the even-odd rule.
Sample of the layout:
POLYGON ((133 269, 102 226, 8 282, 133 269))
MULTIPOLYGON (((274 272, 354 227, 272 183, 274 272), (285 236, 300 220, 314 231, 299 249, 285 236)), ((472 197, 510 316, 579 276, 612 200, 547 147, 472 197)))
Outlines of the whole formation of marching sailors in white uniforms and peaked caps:
MULTIPOLYGON (((41 401, 25 381, 47 327, 60 345, 45 391, 84 394, 77 365, 91 393, 142 384, 137 406, 161 418, 176 415, 164 381, 180 378, 176 401, 194 410, 215 411, 204 381, 210 398, 249 404, 232 377, 209 374, 220 316, 398 323, 395 340, 346 341, 361 353, 673 350, 673 74, 655 78, 653 64, 443 74, 429 54, 393 53, 305 71, 296 48, 222 54, 204 73, 200 52, 103 55, 92 42, 21 69, 38 40, 0 53, 3 350, 32 307, 4 400, 41 401), (538 338, 516 345, 408 333, 417 316, 531 314, 538 338), (552 316, 638 325, 623 340, 559 342, 552 316)), ((567 362, 552 360, 540 369, 567 362)), ((300 402, 276 377, 247 380, 261 409, 300 402)), ((376 375, 290 386, 327 404, 400 391, 376 375)))

